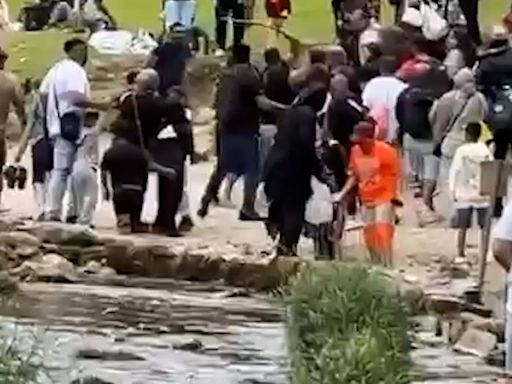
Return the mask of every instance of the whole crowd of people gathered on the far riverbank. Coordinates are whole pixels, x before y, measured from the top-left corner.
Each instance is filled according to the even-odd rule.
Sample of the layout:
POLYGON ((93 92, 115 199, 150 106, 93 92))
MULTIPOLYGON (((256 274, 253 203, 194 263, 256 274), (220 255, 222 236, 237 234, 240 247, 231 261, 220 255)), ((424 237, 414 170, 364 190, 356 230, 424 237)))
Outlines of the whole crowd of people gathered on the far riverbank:
MULTIPOLYGON (((123 233, 151 229, 179 236, 193 227, 185 188, 195 159, 186 94, 192 52, 186 35, 195 2, 173 2, 181 4, 169 5, 175 19, 168 33, 145 67, 127 75, 126 91, 115 100, 92 101, 84 69, 88 47, 80 39, 67 41, 65 57, 41 84, 32 84, 28 113, 15 79, 1 72, 0 117, 5 120, 14 105, 25 124, 14 162, 19 163, 30 144, 38 220, 92 225, 101 173, 104 196, 113 200, 123 233), (101 158, 98 111, 109 109, 117 110, 109 127, 114 139, 101 158), (66 192, 71 198, 63 208, 66 192), (153 208, 158 208, 152 219, 147 217, 150 192, 157 200, 153 208)), ((247 15, 237 12, 249 12, 251 5, 228 3, 217 2, 216 14, 225 11, 235 28, 243 30, 237 20, 247 15), (242 8, 237 11, 230 8, 238 5, 242 8)), ((267 3, 273 19, 282 21, 291 11, 289 2, 267 3)), ((264 63, 254 64, 243 33, 234 34, 214 103, 218 159, 198 216, 208 215, 212 203, 232 206, 231 190, 243 177, 239 218, 265 221, 278 254, 296 255, 306 234, 315 240, 318 254, 334 257, 345 218, 357 214, 365 223, 372 259, 391 265, 399 221, 395 211, 403 205, 400 191, 407 179, 429 220, 440 219, 435 196, 449 193, 463 257, 473 212, 483 228, 488 207, 495 206, 498 217, 503 211, 501 201, 491 204, 480 195, 479 169, 484 161, 505 159, 512 143, 508 19, 481 44, 462 11, 445 34, 433 39, 419 17, 421 2, 405 8, 397 4, 400 17, 392 27, 378 24, 372 2, 348 3, 333 2, 341 46, 311 49, 309 62, 299 66, 277 48, 268 48, 264 63), (359 18, 368 20, 357 35, 359 18), (369 29, 377 33, 363 39, 369 29), (359 37, 356 44, 354 36, 359 37), (307 205, 317 192, 312 179, 335 196, 328 222, 307 220, 307 205), (266 218, 255 207, 259 186, 268 201, 266 218)), ((280 28, 280 22, 272 23, 280 28)), ((218 47, 224 49, 223 32, 217 32, 218 47)), ((0 57, 3 66, 7 54, 0 57)), ((2 158, 5 163, 5 154, 2 158)), ((20 167, 10 173, 16 175, 16 169, 23 173, 20 167)))

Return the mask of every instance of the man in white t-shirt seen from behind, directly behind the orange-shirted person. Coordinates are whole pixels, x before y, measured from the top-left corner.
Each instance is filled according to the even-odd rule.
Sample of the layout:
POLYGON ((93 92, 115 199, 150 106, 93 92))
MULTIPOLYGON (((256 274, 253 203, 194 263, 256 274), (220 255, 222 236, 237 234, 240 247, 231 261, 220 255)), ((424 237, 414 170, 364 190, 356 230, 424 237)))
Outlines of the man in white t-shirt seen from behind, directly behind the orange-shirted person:
POLYGON ((396 119, 396 102, 400 93, 407 88, 407 84, 395 76, 397 69, 396 60, 392 57, 384 57, 380 63, 381 75, 370 80, 363 90, 363 104, 370 111, 370 115, 377 120, 377 135, 388 143, 397 139, 398 121, 396 119), (380 115, 377 117, 377 115, 380 115), (380 118, 386 118, 385 122, 379 122, 380 118), (379 125, 384 123, 385 131, 379 125))

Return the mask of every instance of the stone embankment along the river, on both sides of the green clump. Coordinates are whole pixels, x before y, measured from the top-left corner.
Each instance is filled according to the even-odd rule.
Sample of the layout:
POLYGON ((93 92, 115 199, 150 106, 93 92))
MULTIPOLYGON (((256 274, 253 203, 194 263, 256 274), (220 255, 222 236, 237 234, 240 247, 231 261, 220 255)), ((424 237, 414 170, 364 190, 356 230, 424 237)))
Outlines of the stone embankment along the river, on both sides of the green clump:
MULTIPOLYGON (((200 239, 120 236, 60 223, 0 223, 3 292, 13 288, 15 281, 75 283, 93 276, 108 282, 117 274, 272 290, 311 263, 322 265, 298 258, 273 258, 250 247, 205 244, 200 239)), ((450 284, 441 292, 405 271, 380 270, 416 313, 426 314, 415 332, 419 347, 413 359, 433 382, 439 367, 429 368, 433 360, 425 351, 439 353, 439 348, 459 360, 469 356, 461 360, 460 369, 447 365, 448 376, 479 367, 488 377, 499 377, 500 370, 484 362, 503 365, 504 322, 472 300, 467 266, 443 260, 438 264, 439 271, 450 275, 450 284), (464 367, 466 363, 470 368, 464 367)))

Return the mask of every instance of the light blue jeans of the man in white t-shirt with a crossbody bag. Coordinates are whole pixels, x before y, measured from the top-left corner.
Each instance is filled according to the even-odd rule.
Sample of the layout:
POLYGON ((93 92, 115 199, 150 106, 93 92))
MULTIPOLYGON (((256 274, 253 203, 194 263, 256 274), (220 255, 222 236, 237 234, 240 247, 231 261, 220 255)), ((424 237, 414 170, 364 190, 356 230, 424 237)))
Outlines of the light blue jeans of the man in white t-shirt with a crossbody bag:
POLYGON ((48 220, 62 219, 62 200, 68 188, 68 178, 75 162, 77 146, 60 136, 53 142, 53 169, 48 183, 48 220))

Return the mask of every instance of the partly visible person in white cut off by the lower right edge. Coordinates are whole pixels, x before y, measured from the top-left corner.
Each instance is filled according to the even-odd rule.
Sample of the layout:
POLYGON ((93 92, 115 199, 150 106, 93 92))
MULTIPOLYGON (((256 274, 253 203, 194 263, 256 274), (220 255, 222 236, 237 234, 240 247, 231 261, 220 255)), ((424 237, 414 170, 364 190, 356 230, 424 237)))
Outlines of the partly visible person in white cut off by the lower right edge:
POLYGON ((505 384, 512 384, 512 199, 494 229, 494 258, 507 273, 507 302, 505 310, 505 384))

